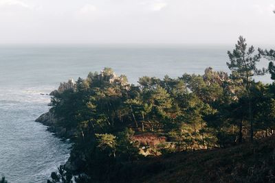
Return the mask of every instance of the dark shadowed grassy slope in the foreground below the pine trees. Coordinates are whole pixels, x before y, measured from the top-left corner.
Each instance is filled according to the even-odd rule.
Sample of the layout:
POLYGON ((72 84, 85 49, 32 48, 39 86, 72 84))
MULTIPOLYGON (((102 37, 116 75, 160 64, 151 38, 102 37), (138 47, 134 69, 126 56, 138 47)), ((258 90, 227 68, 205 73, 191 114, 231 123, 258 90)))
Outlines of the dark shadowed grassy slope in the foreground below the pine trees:
POLYGON ((133 182, 275 182, 275 137, 160 156, 129 164, 119 174, 128 174, 133 182))

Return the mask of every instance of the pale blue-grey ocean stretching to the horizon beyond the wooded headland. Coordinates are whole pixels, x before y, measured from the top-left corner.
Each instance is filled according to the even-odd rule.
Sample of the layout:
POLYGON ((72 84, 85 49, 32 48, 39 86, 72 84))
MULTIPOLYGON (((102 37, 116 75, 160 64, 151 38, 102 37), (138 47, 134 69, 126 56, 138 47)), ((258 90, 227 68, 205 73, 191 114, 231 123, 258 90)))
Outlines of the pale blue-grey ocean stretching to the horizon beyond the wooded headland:
MULTIPOLYGON (((0 46, 0 176, 9 182, 46 182, 69 157, 60 141, 34 120, 47 112, 48 95, 60 82, 111 67, 136 83, 143 75, 228 71, 231 46, 0 46)), ((260 66, 267 66, 263 62, 260 66)), ((257 80, 270 82, 270 76, 257 80)))

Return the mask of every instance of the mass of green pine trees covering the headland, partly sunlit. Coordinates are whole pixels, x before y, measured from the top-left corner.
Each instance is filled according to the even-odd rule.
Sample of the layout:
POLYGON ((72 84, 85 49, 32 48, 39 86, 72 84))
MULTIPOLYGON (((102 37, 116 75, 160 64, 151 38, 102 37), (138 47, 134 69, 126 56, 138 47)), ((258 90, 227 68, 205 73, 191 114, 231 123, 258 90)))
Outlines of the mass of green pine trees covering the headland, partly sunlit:
MULTIPOLYGON (((206 171, 213 173, 209 181, 217 178, 215 162, 221 167, 223 163, 233 166, 234 157, 225 160, 230 151, 237 154, 238 148, 248 148, 249 154, 250 147, 254 148, 232 146, 275 133, 275 84, 254 81, 254 76, 268 71, 275 79, 275 54, 273 50, 254 52, 240 37, 236 48, 228 51, 230 74, 208 68, 204 75, 144 76, 134 85, 126 76, 118 77, 105 68, 89 73, 86 79, 78 78, 76 83, 63 84, 52 93, 50 113, 57 119, 52 125, 63 129, 63 136, 71 138, 74 145, 68 162, 52 173, 48 182, 138 182, 134 178, 137 173, 159 173, 171 164, 175 165, 172 173, 183 169, 184 174, 177 179, 183 182, 201 182, 198 176, 207 177, 206 171), (256 63, 262 59, 270 60, 268 69, 257 69, 256 63), (214 158, 216 150, 208 149, 218 147, 232 150, 217 150, 219 157, 214 158), (168 160, 167 165, 165 158, 151 160, 152 156, 171 157, 178 151, 184 151, 188 161, 168 160), (202 162, 207 163, 207 169, 201 167, 202 162)), ((253 166, 250 160, 245 166, 253 166)), ((233 169, 220 171, 235 172, 233 169)), ((226 176, 221 180, 239 181, 226 176)))

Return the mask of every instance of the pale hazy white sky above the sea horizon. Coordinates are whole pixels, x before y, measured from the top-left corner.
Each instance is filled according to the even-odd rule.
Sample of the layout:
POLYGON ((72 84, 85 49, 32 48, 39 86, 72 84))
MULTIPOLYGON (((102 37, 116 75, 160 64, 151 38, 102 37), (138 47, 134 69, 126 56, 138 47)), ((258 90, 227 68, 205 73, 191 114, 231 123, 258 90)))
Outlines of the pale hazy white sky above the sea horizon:
POLYGON ((274 0, 0 0, 0 44, 275 42, 274 0))

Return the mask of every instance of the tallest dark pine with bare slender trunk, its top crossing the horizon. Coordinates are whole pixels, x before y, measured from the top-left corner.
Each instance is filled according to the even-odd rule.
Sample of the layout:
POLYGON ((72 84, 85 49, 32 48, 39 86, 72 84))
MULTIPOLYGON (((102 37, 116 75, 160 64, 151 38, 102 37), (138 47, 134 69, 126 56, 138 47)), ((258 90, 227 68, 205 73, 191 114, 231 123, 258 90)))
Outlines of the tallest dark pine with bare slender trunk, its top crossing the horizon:
POLYGON ((245 86, 248 95, 250 141, 253 141, 254 134, 250 85, 252 82, 252 77, 256 75, 264 75, 266 73, 265 69, 256 69, 256 63, 261 60, 261 54, 255 54, 254 51, 254 47, 251 46, 248 48, 245 38, 240 36, 235 49, 232 52, 228 51, 230 62, 226 63, 231 71, 236 71, 236 73, 239 73, 239 77, 243 81, 243 85, 245 86))

